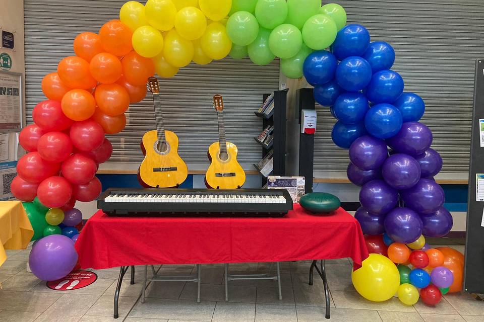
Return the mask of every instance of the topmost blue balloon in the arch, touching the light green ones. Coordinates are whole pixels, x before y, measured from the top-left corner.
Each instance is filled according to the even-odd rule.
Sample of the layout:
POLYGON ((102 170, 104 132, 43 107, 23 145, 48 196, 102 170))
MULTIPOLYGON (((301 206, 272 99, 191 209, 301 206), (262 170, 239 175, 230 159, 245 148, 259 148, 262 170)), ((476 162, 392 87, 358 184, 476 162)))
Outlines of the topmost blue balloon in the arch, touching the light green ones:
POLYGON ((331 45, 331 51, 339 60, 349 56, 361 56, 370 45, 370 33, 367 28, 352 24, 343 27, 331 45))

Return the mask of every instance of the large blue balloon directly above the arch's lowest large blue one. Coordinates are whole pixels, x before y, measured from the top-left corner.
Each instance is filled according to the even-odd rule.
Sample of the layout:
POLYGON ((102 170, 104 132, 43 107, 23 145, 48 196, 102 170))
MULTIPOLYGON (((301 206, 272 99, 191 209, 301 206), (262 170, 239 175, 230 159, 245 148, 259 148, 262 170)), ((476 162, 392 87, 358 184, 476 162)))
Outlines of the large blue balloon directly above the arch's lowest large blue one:
POLYGON ((359 92, 343 93, 333 105, 334 115, 344 124, 360 123, 369 108, 368 99, 359 92))

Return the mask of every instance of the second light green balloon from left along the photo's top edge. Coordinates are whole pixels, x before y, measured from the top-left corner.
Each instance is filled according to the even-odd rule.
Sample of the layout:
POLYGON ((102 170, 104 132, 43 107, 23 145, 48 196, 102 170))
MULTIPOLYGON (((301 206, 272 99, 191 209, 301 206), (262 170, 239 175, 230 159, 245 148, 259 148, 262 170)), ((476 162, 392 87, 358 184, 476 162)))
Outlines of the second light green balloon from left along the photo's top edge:
POLYGON ((256 6, 256 18, 267 29, 274 29, 287 18, 286 0, 259 0, 256 6))

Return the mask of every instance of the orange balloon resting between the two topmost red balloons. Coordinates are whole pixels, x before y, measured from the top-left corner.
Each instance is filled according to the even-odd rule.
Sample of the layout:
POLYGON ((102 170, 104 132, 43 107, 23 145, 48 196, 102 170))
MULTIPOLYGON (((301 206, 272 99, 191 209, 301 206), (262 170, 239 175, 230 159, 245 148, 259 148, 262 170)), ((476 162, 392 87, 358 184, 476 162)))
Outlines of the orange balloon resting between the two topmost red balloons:
POLYGON ((71 120, 84 121, 94 114, 96 101, 86 90, 70 90, 62 98, 61 107, 71 120))

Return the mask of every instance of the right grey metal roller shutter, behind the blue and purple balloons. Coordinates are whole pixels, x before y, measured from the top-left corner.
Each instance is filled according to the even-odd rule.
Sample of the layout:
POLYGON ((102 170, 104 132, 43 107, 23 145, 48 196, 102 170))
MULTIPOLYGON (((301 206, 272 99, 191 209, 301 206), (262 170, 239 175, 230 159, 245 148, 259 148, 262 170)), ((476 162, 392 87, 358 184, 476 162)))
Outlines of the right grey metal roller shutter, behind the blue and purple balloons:
MULTIPOLYGON (((475 59, 484 55, 482 0, 341 0, 348 24, 370 31, 372 41, 386 41, 396 51, 392 69, 406 92, 426 103, 422 122, 434 133, 433 148, 444 159, 440 179, 467 179, 475 59)), ((335 119, 317 107, 315 178, 345 178, 348 152, 334 145, 335 119)))

